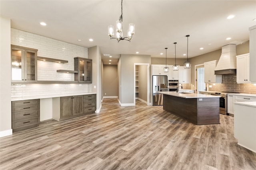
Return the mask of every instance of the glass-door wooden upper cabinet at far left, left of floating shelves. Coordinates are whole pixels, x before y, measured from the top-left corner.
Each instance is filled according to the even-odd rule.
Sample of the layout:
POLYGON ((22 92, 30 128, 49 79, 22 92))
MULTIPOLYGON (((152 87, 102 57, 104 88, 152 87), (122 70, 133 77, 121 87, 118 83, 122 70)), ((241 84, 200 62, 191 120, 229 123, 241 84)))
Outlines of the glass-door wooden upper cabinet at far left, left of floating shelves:
POLYGON ((37 82, 37 51, 11 45, 12 82, 37 82))

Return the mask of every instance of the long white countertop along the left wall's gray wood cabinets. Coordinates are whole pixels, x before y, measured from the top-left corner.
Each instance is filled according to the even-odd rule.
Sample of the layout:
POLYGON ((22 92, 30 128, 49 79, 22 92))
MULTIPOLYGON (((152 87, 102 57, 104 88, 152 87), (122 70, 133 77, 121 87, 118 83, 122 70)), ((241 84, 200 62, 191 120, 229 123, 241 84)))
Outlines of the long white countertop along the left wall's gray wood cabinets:
POLYGON ((29 97, 20 97, 20 98, 11 98, 11 101, 18 100, 32 100, 32 99, 45 99, 45 98, 58 98, 65 96, 78 96, 78 95, 86 95, 86 94, 96 94, 96 93, 69 93, 69 94, 52 94, 52 95, 40 95, 40 96, 29 96, 29 97))

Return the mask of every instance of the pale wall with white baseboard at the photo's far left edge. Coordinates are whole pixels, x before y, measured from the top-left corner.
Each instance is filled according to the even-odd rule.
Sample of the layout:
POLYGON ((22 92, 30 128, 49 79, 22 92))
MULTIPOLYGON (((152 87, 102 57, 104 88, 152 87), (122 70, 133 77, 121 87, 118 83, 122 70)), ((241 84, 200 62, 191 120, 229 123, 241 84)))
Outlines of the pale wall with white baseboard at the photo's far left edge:
POLYGON ((12 135, 11 21, 0 17, 0 137, 12 135))

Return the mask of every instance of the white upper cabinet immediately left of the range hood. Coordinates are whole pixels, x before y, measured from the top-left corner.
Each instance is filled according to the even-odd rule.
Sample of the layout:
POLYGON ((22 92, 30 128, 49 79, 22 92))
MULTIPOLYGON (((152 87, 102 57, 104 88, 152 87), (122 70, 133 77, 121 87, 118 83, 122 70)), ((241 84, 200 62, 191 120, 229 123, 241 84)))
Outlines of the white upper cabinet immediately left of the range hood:
POLYGON ((205 83, 221 83, 221 75, 215 75, 214 70, 218 61, 209 61, 204 63, 204 82, 205 83))

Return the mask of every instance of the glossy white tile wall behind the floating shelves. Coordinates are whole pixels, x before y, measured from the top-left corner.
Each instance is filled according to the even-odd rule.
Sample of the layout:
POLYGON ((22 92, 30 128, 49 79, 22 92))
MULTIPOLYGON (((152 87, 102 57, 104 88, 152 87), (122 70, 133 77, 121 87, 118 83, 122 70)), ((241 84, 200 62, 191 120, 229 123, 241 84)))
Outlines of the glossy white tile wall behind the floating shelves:
MULTIPOLYGON (((68 63, 38 61, 38 80, 74 81, 74 57, 88 58, 88 48, 11 28, 11 44, 38 49, 38 56, 67 60, 68 63)), ((91 92, 91 84, 12 84, 12 98, 91 92)))

